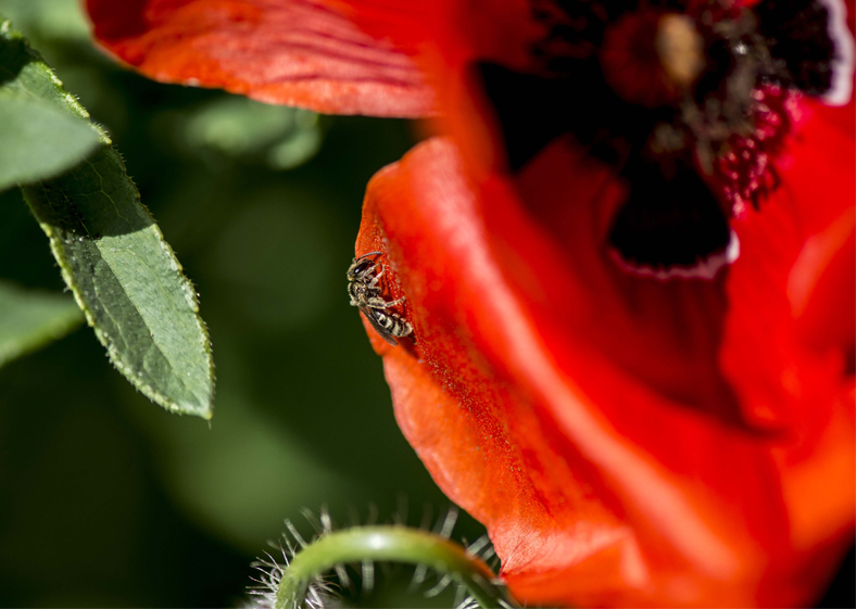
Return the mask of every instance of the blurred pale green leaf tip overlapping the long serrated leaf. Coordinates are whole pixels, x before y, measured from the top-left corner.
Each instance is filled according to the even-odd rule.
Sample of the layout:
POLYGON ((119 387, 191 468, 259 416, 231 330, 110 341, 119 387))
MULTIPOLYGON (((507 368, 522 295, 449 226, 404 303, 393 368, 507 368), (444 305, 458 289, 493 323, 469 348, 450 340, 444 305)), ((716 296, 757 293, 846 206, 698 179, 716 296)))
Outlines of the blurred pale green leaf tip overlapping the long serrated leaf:
POLYGON ((50 105, 0 99, 0 191, 52 178, 83 161, 99 144, 83 118, 50 105))

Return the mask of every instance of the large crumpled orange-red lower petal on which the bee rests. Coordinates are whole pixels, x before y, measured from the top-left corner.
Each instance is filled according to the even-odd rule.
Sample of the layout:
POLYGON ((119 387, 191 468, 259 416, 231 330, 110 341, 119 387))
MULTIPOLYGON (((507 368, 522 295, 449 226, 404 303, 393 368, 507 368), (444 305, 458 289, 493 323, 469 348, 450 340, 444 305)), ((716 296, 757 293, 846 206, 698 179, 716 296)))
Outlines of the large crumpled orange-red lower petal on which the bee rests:
MULTIPOLYGON (((791 353, 770 369, 768 345, 737 340, 765 309, 757 291, 731 282, 765 268, 777 291, 761 295, 777 312, 785 301, 791 319, 776 331, 798 333, 783 282, 806 236, 782 245, 769 229, 745 231, 744 248, 760 253, 720 286, 738 314, 725 317, 721 348, 709 346, 739 393, 758 376, 776 392, 795 373, 807 433, 758 432, 688 407, 597 342, 575 340, 565 322, 583 310, 575 295, 603 304, 578 291, 589 288, 591 259, 569 264, 515 185, 470 183, 450 142, 424 143, 373 179, 357 253, 386 253, 392 296, 406 295, 414 326, 415 343, 395 348, 373 335, 396 418, 441 489, 488 526, 520 600, 785 606, 811 602, 826 584, 852 541, 853 378, 840 350, 791 353), (547 295, 547 284, 567 299, 547 295), (756 367, 729 364, 735 353, 757 356, 756 367)), ((589 322, 608 332, 612 320, 589 322)))

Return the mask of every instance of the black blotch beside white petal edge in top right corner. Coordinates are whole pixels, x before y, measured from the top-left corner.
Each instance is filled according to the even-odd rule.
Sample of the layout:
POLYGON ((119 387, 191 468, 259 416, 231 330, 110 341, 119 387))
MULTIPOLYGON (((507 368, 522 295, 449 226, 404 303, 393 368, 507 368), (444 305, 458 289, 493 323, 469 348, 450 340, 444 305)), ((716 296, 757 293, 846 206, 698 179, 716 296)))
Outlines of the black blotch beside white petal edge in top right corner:
POLYGON ((785 63, 794 85, 813 96, 829 91, 835 43, 827 8, 817 0, 764 0, 754 11, 770 54, 785 63))

